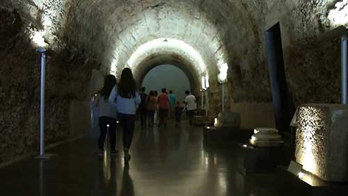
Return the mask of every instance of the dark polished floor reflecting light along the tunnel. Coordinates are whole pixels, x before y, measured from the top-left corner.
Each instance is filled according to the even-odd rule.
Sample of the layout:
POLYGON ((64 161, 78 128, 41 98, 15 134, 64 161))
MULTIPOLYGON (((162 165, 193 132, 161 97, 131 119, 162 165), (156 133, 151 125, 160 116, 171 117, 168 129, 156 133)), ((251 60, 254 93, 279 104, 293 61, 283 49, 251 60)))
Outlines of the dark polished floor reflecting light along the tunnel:
POLYGON ((129 165, 122 156, 121 131, 120 155, 103 158, 97 156, 92 132, 47 151, 55 154, 49 161, 29 158, 0 168, 0 195, 298 195, 281 172, 238 172, 242 152, 204 146, 200 127, 137 126, 129 165))

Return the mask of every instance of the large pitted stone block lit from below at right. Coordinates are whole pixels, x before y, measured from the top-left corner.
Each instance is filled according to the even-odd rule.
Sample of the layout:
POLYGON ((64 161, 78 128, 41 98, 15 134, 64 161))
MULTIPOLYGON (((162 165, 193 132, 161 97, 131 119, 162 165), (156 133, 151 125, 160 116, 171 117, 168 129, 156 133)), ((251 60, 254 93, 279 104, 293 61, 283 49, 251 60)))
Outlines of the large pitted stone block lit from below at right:
POLYGON ((348 105, 308 104, 296 113, 296 162, 325 181, 348 181, 348 105))

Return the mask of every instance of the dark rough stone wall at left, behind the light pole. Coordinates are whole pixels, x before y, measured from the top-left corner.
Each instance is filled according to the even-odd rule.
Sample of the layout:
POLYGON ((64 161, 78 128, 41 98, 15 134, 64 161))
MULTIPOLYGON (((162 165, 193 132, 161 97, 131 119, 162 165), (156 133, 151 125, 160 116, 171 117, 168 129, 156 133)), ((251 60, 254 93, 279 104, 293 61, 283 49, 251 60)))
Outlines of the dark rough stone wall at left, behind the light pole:
MULTIPOLYGON (((38 150, 40 132, 40 56, 26 21, 0 9, 0 163, 38 150)), ((70 137, 71 100, 86 100, 97 63, 66 48, 47 58, 45 143, 70 137)))

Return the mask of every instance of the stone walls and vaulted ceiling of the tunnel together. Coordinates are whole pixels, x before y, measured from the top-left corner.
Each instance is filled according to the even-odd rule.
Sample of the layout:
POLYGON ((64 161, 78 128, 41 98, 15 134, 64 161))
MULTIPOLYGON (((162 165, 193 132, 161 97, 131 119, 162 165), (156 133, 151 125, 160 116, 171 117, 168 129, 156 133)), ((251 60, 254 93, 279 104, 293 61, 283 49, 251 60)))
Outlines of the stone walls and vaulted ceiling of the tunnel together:
POLYGON ((242 128, 275 127, 266 35, 277 24, 292 107, 339 104, 340 40, 322 37, 348 26, 347 0, 0 1, 0 164, 39 148, 38 47, 47 49, 47 145, 88 134, 90 96, 104 75, 130 68, 140 88, 164 64, 184 72, 207 116, 223 106, 242 128))

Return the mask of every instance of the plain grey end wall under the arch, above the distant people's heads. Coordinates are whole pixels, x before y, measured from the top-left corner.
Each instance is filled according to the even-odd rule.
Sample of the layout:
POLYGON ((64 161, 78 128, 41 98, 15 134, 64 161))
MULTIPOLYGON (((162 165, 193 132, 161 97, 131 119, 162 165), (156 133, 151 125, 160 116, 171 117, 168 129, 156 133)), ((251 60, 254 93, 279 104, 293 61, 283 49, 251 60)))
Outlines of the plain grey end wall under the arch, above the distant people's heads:
POLYGON ((170 64, 159 65, 152 68, 144 77, 141 84, 145 86, 146 93, 150 90, 161 92, 162 88, 172 90, 177 101, 184 101, 186 90, 191 89, 189 77, 183 70, 170 64))

